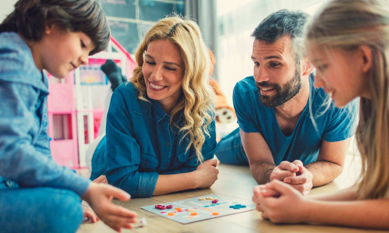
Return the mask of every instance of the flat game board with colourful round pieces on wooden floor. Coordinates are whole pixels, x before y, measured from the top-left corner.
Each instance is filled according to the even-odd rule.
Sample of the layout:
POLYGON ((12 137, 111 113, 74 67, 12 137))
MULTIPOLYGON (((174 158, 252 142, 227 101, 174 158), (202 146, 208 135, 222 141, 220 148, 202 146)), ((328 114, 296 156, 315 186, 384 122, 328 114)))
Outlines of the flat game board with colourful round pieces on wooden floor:
POLYGON ((230 214, 237 214, 255 209, 255 204, 251 201, 236 201, 228 197, 220 197, 216 195, 198 196, 176 202, 168 202, 160 204, 165 207, 171 206, 171 209, 158 209, 156 205, 148 205, 142 209, 166 217, 173 221, 187 224, 214 217, 221 217, 230 214), (216 198, 218 201, 212 203, 212 200, 200 198, 216 198), (176 209, 181 208, 181 209, 176 209))

